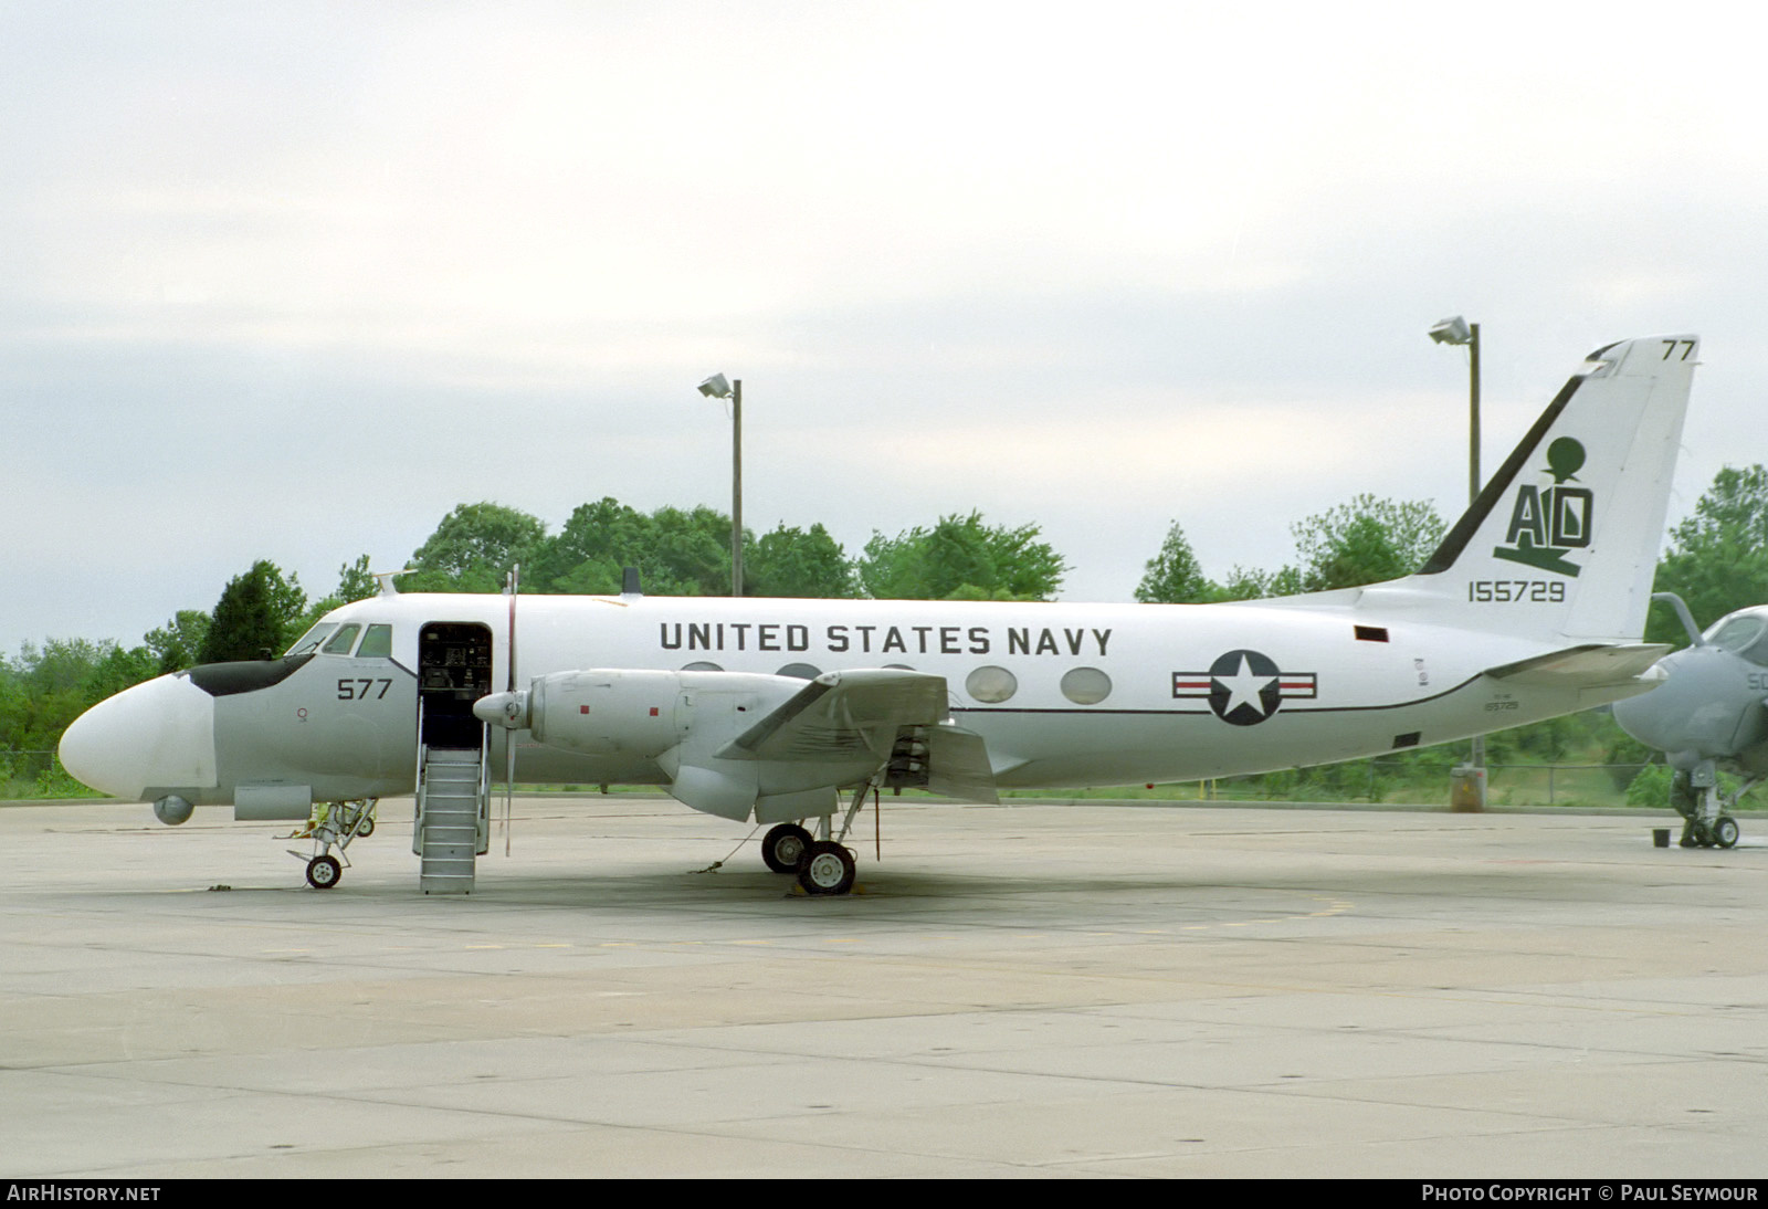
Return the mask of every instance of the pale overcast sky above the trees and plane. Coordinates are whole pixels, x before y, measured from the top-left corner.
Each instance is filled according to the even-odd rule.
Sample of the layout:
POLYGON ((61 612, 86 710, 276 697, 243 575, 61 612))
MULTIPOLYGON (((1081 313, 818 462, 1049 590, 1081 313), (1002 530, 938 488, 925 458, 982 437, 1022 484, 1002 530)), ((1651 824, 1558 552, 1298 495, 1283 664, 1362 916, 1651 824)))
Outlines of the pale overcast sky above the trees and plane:
MULTIPOLYGON (((1699 332, 1678 497, 1768 461, 1743 5, 0 0, 0 652, 313 596, 461 502, 1170 521, 1275 567, 1466 504, 1584 354, 1699 332)), ((1708 619, 1703 619, 1708 620, 1708 619)))

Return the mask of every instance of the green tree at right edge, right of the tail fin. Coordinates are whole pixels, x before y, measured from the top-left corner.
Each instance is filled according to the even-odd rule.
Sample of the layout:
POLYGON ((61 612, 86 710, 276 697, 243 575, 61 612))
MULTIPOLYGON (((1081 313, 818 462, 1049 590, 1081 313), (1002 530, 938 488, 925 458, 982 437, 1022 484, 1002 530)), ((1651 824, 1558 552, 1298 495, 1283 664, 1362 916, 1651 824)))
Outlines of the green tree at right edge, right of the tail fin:
MULTIPOLYGON (((1687 601, 1697 626, 1768 601, 1768 470, 1761 465, 1722 468, 1669 536, 1655 587, 1687 601)), ((1662 604, 1651 610, 1646 640, 1688 643, 1662 604)))

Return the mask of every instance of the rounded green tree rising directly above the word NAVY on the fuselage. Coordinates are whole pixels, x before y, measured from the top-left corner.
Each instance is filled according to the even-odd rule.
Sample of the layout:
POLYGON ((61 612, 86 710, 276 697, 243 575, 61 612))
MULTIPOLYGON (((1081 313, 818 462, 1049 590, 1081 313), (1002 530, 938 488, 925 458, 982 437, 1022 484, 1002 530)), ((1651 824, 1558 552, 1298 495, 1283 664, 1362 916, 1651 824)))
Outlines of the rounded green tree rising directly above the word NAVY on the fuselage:
POLYGON ((1047 601, 1066 571, 1036 525, 985 525, 981 513, 896 537, 873 532, 857 564, 866 596, 916 601, 1047 601))

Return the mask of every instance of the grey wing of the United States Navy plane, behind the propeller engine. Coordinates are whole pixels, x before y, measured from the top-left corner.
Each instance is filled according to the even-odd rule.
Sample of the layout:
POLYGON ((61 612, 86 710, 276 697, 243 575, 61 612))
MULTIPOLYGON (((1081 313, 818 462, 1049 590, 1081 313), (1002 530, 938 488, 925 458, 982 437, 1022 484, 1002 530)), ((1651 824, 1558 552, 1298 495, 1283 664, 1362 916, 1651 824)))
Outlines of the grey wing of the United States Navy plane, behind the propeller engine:
POLYGON ((725 760, 888 760, 903 726, 951 712, 946 677, 896 668, 826 672, 718 753, 725 760))

